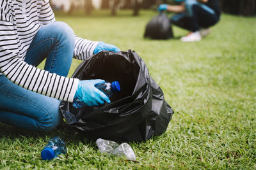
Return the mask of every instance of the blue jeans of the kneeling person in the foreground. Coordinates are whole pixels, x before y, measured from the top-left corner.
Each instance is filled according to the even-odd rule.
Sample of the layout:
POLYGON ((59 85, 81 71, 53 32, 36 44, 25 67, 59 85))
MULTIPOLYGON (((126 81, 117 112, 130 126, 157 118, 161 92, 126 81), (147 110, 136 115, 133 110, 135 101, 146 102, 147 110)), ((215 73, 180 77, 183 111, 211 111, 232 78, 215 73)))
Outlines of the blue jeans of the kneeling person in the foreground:
MULTIPOLYGON (((63 22, 43 25, 37 32, 25 61, 38 66, 45 59, 44 69, 67 76, 74 53, 75 35, 63 22)), ((23 89, 0 76, 0 122, 24 129, 49 131, 61 122, 60 101, 23 89)))

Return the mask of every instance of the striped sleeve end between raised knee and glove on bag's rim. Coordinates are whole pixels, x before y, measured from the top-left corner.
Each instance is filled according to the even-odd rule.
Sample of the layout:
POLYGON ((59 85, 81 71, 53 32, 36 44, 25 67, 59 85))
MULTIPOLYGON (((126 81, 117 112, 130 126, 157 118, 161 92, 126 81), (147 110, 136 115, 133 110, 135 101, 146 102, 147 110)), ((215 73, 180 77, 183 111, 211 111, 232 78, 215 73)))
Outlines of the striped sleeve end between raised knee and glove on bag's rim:
POLYGON ((99 41, 90 41, 88 39, 79 38, 76 36, 74 48, 74 58, 85 60, 93 55, 93 50, 98 45, 99 41))

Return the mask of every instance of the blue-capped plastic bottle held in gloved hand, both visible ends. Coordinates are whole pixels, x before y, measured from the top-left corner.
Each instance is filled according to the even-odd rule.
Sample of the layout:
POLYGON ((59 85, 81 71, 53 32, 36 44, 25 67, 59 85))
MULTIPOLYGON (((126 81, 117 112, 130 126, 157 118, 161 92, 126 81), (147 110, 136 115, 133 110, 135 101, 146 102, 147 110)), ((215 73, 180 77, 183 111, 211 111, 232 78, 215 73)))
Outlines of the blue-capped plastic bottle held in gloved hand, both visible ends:
MULTIPOLYGON (((104 92, 104 94, 106 94, 106 96, 108 96, 109 98, 113 96, 115 92, 118 92, 121 89, 118 81, 113 81, 112 83, 108 81, 104 81, 102 83, 96 84, 95 87, 100 91, 104 92)), ((86 106, 86 104, 83 103, 83 101, 80 101, 79 99, 77 99, 76 101, 73 102, 73 106, 78 109, 83 106, 86 106)))

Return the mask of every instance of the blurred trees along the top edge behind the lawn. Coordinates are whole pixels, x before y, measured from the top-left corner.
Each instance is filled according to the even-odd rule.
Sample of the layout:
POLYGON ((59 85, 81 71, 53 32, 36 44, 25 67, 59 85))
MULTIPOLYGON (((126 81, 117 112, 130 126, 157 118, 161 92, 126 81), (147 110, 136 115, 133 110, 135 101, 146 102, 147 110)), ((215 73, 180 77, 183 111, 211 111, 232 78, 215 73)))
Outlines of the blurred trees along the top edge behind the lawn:
MULTIPOLYGON (((52 2, 54 0, 51 0, 52 2)), ((58 1, 58 0, 55 0, 58 1)), ((61 1, 61 0, 60 0, 61 1)), ((75 10, 85 10, 87 15, 93 10, 93 0, 69 0, 69 13, 75 10)), ((232 15, 256 15, 256 0, 219 0, 221 10, 232 15)), ((101 0, 100 9, 110 10, 111 15, 117 15, 118 10, 132 9, 132 15, 140 14, 141 9, 156 10, 161 3, 177 4, 174 0, 101 0)), ((52 3, 54 6, 54 3, 52 3)), ((55 8, 60 9, 60 8, 55 8)))

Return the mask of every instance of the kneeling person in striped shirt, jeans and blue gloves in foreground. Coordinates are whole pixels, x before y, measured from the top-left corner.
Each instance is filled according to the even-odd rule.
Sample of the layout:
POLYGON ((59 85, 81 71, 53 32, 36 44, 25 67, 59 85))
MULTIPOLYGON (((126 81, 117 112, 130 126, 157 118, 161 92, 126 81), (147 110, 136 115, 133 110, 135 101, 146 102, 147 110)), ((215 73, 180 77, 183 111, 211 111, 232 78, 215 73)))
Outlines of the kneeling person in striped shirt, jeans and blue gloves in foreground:
POLYGON ((102 50, 120 51, 102 41, 75 36, 56 22, 49 0, 0 0, 0 122, 49 131, 61 122, 60 100, 97 106, 109 98, 95 84, 68 78, 72 58, 102 50), (44 69, 36 66, 45 61, 44 69))

